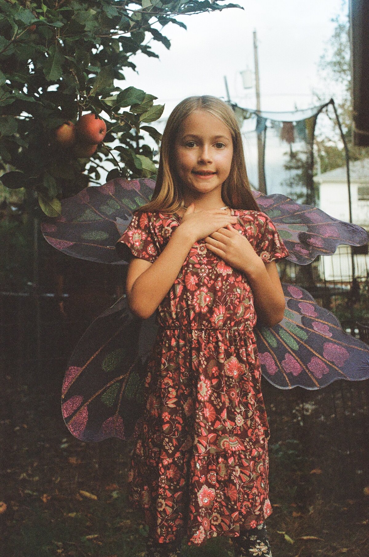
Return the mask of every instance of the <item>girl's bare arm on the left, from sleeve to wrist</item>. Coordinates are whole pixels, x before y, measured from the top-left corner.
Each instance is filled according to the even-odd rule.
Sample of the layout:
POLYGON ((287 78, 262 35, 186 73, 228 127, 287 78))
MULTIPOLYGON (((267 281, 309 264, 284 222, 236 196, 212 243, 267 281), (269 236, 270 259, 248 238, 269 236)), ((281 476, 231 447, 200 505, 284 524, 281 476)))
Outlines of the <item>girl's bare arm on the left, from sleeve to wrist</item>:
POLYGON ((188 228, 177 227, 154 263, 133 257, 129 263, 126 295, 134 314, 147 319, 168 294, 194 245, 188 228))

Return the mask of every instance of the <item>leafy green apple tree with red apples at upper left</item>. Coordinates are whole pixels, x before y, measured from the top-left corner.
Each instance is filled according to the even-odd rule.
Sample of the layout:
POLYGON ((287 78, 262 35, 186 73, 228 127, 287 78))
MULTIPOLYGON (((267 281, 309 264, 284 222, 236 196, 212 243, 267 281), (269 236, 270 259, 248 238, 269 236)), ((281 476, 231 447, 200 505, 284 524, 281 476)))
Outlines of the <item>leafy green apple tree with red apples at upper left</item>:
POLYGON ((176 16, 228 7, 239 6, 224 0, 0 0, 3 185, 36 192, 43 211, 56 216, 60 199, 99 183, 106 161, 115 165, 108 179, 155 174, 141 134, 158 143, 151 124, 164 106, 151 93, 117 83, 127 68, 135 70, 137 52, 158 58, 152 41, 170 47, 163 27, 186 28, 176 16))

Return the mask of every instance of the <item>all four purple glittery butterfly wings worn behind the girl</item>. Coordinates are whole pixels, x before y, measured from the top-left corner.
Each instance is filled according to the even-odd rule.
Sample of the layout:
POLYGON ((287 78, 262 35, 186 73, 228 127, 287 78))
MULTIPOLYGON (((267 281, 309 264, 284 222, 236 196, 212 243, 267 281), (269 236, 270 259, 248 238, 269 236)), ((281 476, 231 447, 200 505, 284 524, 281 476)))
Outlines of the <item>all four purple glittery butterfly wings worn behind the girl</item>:
MULTIPOLYGON (((60 217, 41 224, 43 236, 67 255, 125 264, 130 250, 119 240, 129 227, 132 230, 132 213, 149 201, 154 187, 150 179, 118 178, 85 188, 62 201, 60 217)), ((316 207, 298 204, 281 194, 253 193, 263 214, 272 219, 289 261, 306 265, 318 255, 331 255, 339 244, 361 246, 369 241, 363 228, 329 217, 316 207)), ((235 228, 244 223, 245 218, 235 228)), ((175 226, 178 218, 177 222, 176 218, 164 222, 164 236, 175 226)), ((142 247, 142 238, 138 243, 133 238, 136 256, 140 256, 140 243, 142 247)), ((159 249, 154 247, 151 261, 159 249)), ((206 251, 204 245, 202 249, 206 251)), ((150 254, 144 258, 150 260, 150 254)), ((286 296, 283 320, 272 328, 255 327, 264 377, 281 389, 297 385, 317 389, 335 379, 368 378, 369 347, 345 334, 336 317, 318 306, 306 290, 282 286, 286 296)), ((78 439, 131 437, 146 405, 142 386, 158 334, 157 312, 149 319, 140 319, 132 314, 124 296, 100 315, 78 342, 62 393, 63 417, 78 439)))

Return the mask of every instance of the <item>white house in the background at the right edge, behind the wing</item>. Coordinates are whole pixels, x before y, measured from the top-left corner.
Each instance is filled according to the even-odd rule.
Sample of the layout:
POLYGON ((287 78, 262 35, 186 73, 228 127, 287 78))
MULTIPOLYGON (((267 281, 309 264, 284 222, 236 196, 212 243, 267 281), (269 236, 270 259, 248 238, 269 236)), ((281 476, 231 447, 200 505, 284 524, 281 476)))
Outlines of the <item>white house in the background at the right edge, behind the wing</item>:
MULTIPOLYGON (((314 178, 319 184, 319 208, 331 217, 350 221, 346 167, 336 168, 314 178)), ((350 163, 352 222, 369 231, 369 159, 350 163)), ((353 247, 355 276, 365 278, 369 272, 368 245, 353 247)), ((319 271, 326 281, 350 282, 351 247, 338 246, 332 256, 320 258, 319 271)))

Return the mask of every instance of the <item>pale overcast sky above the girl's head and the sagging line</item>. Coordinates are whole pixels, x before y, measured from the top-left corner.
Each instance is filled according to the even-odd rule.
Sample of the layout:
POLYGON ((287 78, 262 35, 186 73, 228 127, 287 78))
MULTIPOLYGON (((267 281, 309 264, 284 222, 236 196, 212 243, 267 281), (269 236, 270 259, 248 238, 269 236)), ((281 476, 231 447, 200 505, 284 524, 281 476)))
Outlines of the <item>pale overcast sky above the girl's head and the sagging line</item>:
MULTIPOLYGON (((255 108, 253 92, 244 90, 239 72, 254 69, 253 30, 257 31, 262 109, 293 110, 312 105, 312 90, 321 89, 317 64, 332 35, 331 18, 342 13, 342 0, 241 0, 244 9, 183 16, 187 30, 169 24, 171 41, 151 41, 160 59, 131 58, 138 74, 125 70, 134 85, 165 104, 163 117, 190 95, 224 97, 224 75, 231 99, 255 108)), ((327 91, 329 100, 330 91, 327 91)))

